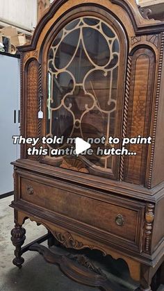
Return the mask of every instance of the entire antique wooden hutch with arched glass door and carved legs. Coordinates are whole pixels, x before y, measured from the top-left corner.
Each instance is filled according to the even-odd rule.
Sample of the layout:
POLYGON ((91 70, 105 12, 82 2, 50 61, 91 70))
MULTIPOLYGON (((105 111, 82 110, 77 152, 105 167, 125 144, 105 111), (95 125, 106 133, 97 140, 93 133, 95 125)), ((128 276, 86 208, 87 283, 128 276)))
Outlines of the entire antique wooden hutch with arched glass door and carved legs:
MULTIPOLYGON (((134 0, 56 0, 31 44, 19 47, 22 135, 65 137, 62 145, 38 142, 36 149, 47 149, 47 156, 30 156, 23 144, 13 163, 13 263, 19 267, 28 249, 21 250, 22 224, 30 218, 47 228, 51 242, 123 258, 140 290, 151 290, 164 256, 164 24, 141 14, 134 0), (95 144, 92 156, 51 153, 64 150, 67 138, 102 136, 120 139, 104 149, 119 149, 126 137, 152 140, 127 146, 136 155, 96 156, 95 144)), ((58 265, 76 281, 109 290, 102 274, 83 269, 86 262, 83 271, 69 258, 58 265)))

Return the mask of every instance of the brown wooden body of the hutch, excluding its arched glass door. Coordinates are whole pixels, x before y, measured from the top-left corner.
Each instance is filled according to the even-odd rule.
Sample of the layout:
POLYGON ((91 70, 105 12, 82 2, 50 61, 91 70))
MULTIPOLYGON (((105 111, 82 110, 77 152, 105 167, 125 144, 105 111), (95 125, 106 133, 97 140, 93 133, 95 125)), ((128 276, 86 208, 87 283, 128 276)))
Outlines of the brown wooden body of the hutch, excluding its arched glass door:
MULTIPOLYGON (((110 178, 80 172, 78 167, 77 171, 72 171, 75 167, 55 167, 49 160, 44 163, 46 158, 40 158, 39 163, 38 158, 27 156, 23 145, 22 158, 13 163, 13 263, 21 267, 24 262, 22 224, 29 218, 54 236, 51 241, 49 238, 49 246, 59 242, 66 248, 88 247, 99 249, 105 256, 122 258, 131 277, 140 281, 140 290, 151 290, 151 278, 164 261, 164 23, 143 19, 135 0, 103 0, 101 4, 99 0, 54 1, 35 29, 31 44, 19 48, 21 131, 24 137, 45 133, 46 114, 38 120, 38 105, 42 97, 45 110, 47 51, 64 24, 84 15, 110 22, 124 48, 115 132, 120 138, 151 135, 152 144, 131 145, 130 150, 137 151, 137 156, 117 158, 110 178)), ((46 257, 50 258, 49 253, 46 257)), ((69 265, 66 274, 71 271, 69 265)), ((85 283, 81 275, 80 271, 79 281, 85 283)))

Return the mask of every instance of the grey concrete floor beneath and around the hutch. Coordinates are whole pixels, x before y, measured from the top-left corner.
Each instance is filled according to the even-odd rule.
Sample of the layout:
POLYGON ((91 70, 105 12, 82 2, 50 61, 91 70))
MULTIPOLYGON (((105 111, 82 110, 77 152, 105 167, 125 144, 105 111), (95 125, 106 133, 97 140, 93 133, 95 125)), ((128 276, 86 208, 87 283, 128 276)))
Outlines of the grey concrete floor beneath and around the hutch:
MULTIPOLYGON (((14 247, 10 241, 10 231, 14 226, 13 209, 8 207, 12 200, 13 197, 0 199, 0 291, 65 291, 66 289, 67 291, 98 291, 97 288, 90 288, 71 281, 60 272, 56 265, 46 263, 39 253, 33 251, 24 253, 25 262, 22 269, 13 265, 14 247)), ((29 220, 25 222, 24 227, 26 228, 26 243, 47 233, 44 226, 36 226, 35 222, 29 220)), ((110 269, 108 269, 108 273, 106 267, 104 269, 108 278, 120 283, 120 286, 124 287, 126 291, 135 290, 137 283, 129 278, 124 262, 120 261, 118 262, 120 265, 115 266, 114 261, 109 257, 109 263, 107 263, 110 265, 110 269), (115 273, 119 274, 119 269, 122 278, 115 276, 115 273), (113 274, 111 274, 112 272, 113 274)), ((164 286, 161 286, 158 291, 164 291, 164 286)))

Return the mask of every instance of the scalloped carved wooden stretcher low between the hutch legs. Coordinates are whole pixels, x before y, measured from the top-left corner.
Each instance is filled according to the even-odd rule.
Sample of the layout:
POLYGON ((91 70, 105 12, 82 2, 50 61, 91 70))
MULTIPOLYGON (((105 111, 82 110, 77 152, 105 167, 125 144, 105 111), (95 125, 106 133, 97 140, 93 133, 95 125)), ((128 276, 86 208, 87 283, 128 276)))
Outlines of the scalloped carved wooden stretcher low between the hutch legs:
MULTIPOLYGON (((106 274, 83 255, 72 255, 71 253, 65 256, 59 255, 37 243, 33 244, 29 249, 38 251, 48 263, 58 265, 67 277, 76 282, 98 287, 104 291, 114 291, 115 288, 118 288, 117 284, 110 282, 106 274)), ((119 289, 123 291, 122 288, 119 289)))

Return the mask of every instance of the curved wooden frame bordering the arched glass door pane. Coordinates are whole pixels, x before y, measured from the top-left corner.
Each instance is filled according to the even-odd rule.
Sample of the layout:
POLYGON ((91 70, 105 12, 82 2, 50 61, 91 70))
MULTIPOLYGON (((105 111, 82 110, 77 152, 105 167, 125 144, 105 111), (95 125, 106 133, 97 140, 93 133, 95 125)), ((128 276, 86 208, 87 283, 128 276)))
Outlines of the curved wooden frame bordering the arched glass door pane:
MULTIPOLYGON (((100 19, 104 20, 110 26, 112 26, 117 33, 117 36, 120 40, 120 65, 119 65, 119 74, 118 74, 118 94, 117 94, 117 109, 116 109, 116 122, 115 122, 115 137, 119 137, 120 140, 122 138, 122 116, 123 116, 123 104, 124 104, 124 82, 126 77, 126 55, 127 55, 127 42, 126 42, 126 33, 124 32, 124 29, 120 25, 119 22, 108 13, 105 9, 100 9, 94 6, 86 6, 85 4, 83 7, 79 8, 72 8, 66 15, 61 15, 60 19, 58 19, 58 22, 54 24, 54 26, 51 27, 51 30, 47 32, 47 35, 45 35, 44 42, 42 43, 42 47, 40 49, 40 63, 42 64, 42 94, 44 96, 44 119, 42 121, 42 133, 41 135, 44 136, 46 133, 46 100, 47 100, 47 78, 45 81, 45 77, 47 76, 47 55, 49 48, 51 46, 51 43, 56 38, 56 35, 58 35, 59 31, 67 25, 72 20, 79 18, 79 17, 99 17, 100 19), (122 76, 123 80, 122 80, 122 76)), ((120 144, 117 144, 117 148, 120 147, 120 144)), ((40 158, 41 163, 46 163, 49 165, 54 165, 54 160, 52 158, 48 158, 46 156, 40 158)), ((119 172, 120 172, 120 156, 114 156, 113 158, 113 171, 109 174, 104 174, 105 177, 108 178, 119 178, 119 172)))

